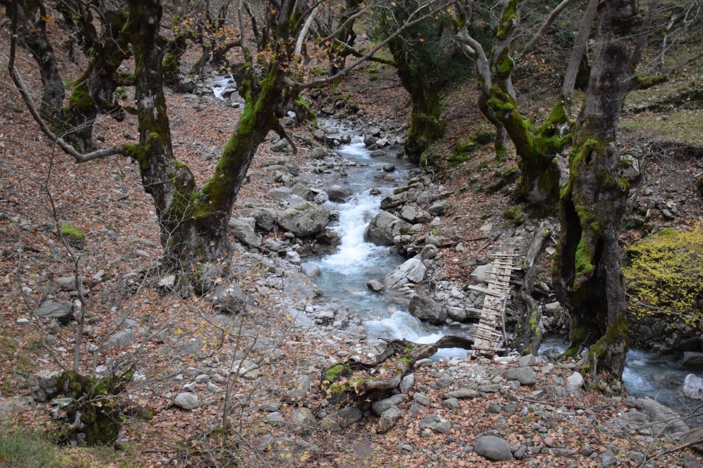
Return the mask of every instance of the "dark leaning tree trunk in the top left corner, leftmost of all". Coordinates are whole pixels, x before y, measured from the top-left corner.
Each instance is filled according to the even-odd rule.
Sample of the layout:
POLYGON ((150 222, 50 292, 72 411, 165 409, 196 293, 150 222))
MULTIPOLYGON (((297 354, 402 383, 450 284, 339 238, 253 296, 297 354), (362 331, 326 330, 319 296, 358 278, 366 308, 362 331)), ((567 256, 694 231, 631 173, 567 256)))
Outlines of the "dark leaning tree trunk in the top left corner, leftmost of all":
MULTIPOLYGON (((15 9, 12 0, 0 0, 0 5, 5 6, 6 14, 13 18, 15 9)), ((39 76, 44 89, 41 93, 39 106, 44 119, 53 129, 60 127, 62 119, 61 107, 65 96, 65 87, 58 71, 56 54, 46 35, 46 13, 44 4, 36 1, 17 1, 17 32, 20 46, 30 51, 39 67, 39 76)))

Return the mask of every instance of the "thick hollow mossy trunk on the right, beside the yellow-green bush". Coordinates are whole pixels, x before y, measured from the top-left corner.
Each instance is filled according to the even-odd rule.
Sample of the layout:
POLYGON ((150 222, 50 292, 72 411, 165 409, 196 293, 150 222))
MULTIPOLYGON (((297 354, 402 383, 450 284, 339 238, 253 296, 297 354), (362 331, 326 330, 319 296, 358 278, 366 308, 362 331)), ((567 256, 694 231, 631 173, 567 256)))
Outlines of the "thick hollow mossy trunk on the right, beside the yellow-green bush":
POLYGON ((603 2, 586 103, 576 121, 569 183, 560 200, 560 241, 553 269, 557 296, 572 314, 570 349, 588 346, 594 372, 619 379, 627 352, 619 226, 630 192, 617 176, 617 124, 630 85, 629 37, 636 0, 603 2))

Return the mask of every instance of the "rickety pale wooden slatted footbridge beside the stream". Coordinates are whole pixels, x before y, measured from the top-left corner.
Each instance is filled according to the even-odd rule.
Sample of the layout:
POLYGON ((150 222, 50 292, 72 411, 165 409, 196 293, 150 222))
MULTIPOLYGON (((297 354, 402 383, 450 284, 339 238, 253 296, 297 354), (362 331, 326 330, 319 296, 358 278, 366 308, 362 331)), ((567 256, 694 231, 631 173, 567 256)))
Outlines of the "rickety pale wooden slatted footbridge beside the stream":
POLYGON ((493 356, 498 351, 505 351, 501 348, 501 342, 505 340, 505 303, 508 300, 510 291, 510 275, 512 271, 520 270, 520 266, 513 266, 518 254, 514 254, 512 249, 508 252, 496 252, 489 254, 495 260, 491 263, 492 268, 487 273, 489 280, 487 287, 470 285, 469 289, 486 294, 481 308, 467 308, 467 310, 479 314, 479 323, 476 325, 473 346, 473 356, 493 356))

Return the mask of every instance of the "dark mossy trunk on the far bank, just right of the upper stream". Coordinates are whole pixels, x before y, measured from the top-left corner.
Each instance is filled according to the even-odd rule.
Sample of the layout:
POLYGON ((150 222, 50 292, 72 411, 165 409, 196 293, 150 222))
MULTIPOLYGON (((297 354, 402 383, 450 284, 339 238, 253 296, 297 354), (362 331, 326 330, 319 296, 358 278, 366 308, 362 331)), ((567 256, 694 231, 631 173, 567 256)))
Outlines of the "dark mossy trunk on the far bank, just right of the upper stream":
POLYGON ((439 79, 433 78, 432 70, 417 65, 413 67, 404 59, 398 60, 397 68, 413 105, 405 152, 411 160, 420 162, 420 156, 444 134, 446 126, 440 118, 439 79))

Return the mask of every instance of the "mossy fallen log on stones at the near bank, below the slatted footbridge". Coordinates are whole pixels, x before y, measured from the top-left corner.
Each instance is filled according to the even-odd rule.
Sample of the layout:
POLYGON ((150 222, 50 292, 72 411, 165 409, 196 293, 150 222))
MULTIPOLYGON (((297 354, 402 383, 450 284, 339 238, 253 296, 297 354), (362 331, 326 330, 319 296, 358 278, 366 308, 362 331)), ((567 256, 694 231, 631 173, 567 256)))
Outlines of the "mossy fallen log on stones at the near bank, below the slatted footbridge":
POLYGON ((323 370, 320 389, 333 405, 369 405, 399 386, 403 377, 418 360, 429 358, 441 348, 470 350, 473 344, 472 339, 463 337, 442 337, 431 344, 394 339, 376 358, 375 363, 367 364, 348 359, 323 370))

